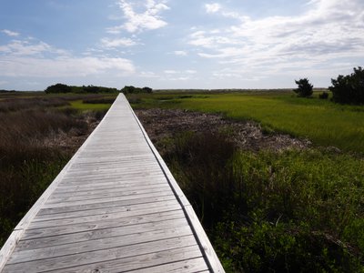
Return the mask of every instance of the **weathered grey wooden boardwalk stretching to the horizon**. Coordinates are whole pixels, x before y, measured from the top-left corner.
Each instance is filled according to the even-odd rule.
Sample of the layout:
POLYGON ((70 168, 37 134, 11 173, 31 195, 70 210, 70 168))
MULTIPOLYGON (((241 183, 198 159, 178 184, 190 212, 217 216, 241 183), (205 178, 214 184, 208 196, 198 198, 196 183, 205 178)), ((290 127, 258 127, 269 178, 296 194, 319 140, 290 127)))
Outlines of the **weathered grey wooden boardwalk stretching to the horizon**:
POLYGON ((224 272, 124 95, 0 251, 0 272, 224 272))

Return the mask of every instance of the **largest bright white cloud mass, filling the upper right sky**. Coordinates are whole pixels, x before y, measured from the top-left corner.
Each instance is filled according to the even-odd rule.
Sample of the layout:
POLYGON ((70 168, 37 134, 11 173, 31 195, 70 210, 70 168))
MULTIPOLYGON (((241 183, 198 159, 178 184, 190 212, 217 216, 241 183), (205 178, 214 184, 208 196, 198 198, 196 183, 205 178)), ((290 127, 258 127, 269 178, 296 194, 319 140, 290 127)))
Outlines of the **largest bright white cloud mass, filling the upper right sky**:
MULTIPOLYGON (((227 15, 209 6, 210 13, 227 15)), ((234 15, 238 23, 221 29, 200 27, 189 35, 198 56, 215 58, 220 64, 273 70, 299 64, 317 66, 333 58, 358 57, 364 52, 364 2, 352 0, 311 0, 301 15, 268 16, 253 19, 234 15)), ((235 71, 227 75, 236 75, 235 71)))

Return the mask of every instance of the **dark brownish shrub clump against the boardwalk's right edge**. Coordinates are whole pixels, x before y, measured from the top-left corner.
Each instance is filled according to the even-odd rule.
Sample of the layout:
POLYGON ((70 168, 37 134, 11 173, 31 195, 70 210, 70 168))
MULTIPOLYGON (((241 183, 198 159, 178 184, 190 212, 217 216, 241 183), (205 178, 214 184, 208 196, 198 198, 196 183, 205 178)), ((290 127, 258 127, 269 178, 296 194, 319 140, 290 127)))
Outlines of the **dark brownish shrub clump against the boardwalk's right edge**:
POLYGON ((174 139, 173 150, 167 152, 175 162, 177 181, 191 201, 205 227, 212 227, 225 216, 226 204, 238 192, 227 171, 227 162, 234 154, 234 144, 226 136, 187 132, 174 139))

